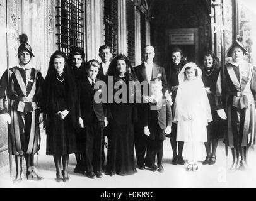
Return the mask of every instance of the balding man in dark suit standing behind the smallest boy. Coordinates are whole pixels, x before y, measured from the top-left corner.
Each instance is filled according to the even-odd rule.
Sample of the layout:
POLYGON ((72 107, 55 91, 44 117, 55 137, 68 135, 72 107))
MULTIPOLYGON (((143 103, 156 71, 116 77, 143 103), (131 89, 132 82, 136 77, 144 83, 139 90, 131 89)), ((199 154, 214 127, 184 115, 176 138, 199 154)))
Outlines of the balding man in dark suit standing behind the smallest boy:
MULTIPOLYGON (((149 92, 149 82, 151 79, 161 77, 161 81, 163 84, 163 92, 168 89, 165 69, 153 63, 153 59, 155 56, 154 47, 153 46, 146 46, 144 49, 144 63, 141 65, 134 67, 134 72, 137 75, 137 79, 139 82, 148 82, 148 92, 149 92)), ((148 136, 144 133, 144 122, 145 116, 144 113, 147 109, 148 103, 153 102, 149 94, 143 94, 143 90, 141 90, 141 95, 143 98, 143 103, 139 104, 138 106, 138 116, 139 121, 134 126, 135 131, 135 149, 136 149, 136 156, 137 156, 137 168, 143 170, 145 168, 145 153, 146 147, 148 144, 148 136)), ((148 166, 153 171, 158 170, 156 165, 148 166)))

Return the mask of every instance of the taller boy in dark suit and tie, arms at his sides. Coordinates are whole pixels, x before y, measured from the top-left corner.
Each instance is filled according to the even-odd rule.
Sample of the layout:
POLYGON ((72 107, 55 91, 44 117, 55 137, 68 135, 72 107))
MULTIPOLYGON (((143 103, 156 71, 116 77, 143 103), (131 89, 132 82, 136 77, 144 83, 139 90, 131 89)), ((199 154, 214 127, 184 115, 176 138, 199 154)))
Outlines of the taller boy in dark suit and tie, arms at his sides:
POLYGON ((81 118, 80 126, 86 135, 86 175, 89 178, 102 177, 102 138, 104 126, 107 126, 107 118, 103 104, 95 102, 94 95, 99 89, 94 89, 100 63, 90 60, 86 63, 86 77, 81 80, 79 95, 81 118), (84 124, 84 125, 83 125, 84 124))

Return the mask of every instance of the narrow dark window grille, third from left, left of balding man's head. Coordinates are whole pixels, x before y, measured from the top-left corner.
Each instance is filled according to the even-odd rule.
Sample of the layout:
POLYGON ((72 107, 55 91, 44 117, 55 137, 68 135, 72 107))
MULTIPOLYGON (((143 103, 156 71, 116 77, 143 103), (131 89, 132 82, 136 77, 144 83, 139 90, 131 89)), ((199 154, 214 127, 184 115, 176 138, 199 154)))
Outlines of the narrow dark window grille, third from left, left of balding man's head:
POLYGON ((135 6, 131 0, 126 0, 127 8, 127 47, 128 58, 132 65, 135 65, 135 6))

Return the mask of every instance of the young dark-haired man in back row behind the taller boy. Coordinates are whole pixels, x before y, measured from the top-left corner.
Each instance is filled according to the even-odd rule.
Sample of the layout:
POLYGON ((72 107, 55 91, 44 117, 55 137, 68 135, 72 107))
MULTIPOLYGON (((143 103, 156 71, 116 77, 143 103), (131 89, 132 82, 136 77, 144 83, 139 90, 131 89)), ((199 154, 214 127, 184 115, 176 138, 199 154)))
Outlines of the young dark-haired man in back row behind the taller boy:
MULTIPOLYGON (((108 83, 108 67, 110 65, 110 59, 112 58, 112 52, 110 49, 110 46, 103 45, 100 46, 99 50, 99 57, 102 60, 102 63, 100 63, 100 69, 97 75, 97 78, 104 81, 106 84, 108 83)), ((104 128, 103 131, 103 137, 102 137, 102 168, 104 168, 105 163, 105 151, 104 151, 104 145, 105 145, 105 136, 108 136, 108 132, 110 132, 109 126, 104 128)))

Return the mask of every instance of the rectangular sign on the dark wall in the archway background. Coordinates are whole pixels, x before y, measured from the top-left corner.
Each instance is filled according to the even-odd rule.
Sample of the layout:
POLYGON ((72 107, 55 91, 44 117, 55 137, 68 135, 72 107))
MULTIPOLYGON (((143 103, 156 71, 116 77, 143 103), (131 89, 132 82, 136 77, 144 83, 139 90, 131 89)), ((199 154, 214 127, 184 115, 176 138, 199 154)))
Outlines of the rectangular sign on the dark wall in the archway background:
POLYGON ((170 43, 172 45, 194 45, 194 33, 171 33, 170 43))

